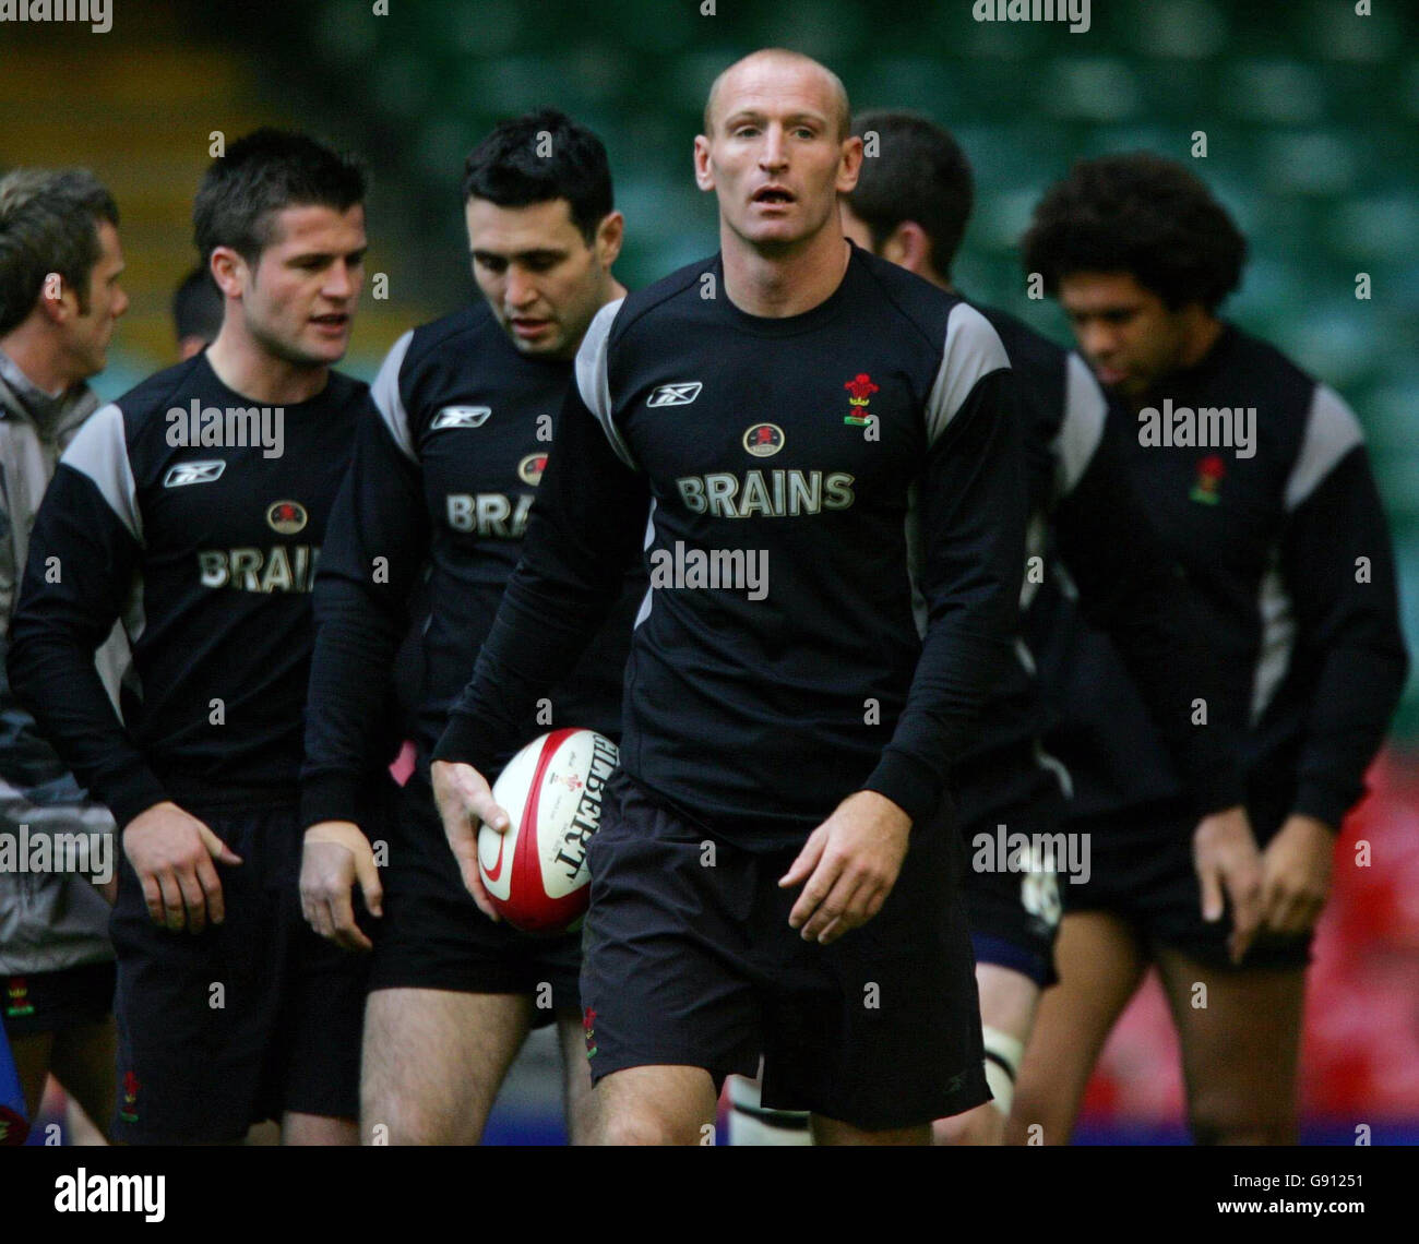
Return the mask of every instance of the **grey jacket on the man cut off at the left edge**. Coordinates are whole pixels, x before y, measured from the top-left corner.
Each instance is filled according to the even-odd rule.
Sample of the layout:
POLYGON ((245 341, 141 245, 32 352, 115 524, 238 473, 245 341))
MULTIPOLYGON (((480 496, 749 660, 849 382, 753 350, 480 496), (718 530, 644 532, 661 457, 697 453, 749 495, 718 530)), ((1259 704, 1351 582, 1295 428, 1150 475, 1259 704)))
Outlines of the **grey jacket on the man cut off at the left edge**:
MULTIPOLYGON (((118 868, 114 818, 85 799, 34 719, 16 704, 4 672, 40 501, 60 454, 96 407, 87 384, 50 397, 0 350, 0 976, 114 957, 108 904, 88 881, 105 862, 118 868)), ((99 648, 96 664, 116 704, 128 665, 121 628, 99 648)))

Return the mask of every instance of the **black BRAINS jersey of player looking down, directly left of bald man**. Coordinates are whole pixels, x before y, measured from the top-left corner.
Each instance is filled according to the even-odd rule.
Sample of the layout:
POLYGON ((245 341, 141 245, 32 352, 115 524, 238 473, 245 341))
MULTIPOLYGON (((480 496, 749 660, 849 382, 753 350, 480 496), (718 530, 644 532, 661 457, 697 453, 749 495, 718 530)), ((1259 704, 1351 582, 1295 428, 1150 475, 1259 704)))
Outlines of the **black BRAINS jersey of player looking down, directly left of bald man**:
MULTIPOLYGON (((481 299, 404 333, 385 359, 315 584, 302 774, 308 824, 360 821, 360 790, 380 762, 383 726, 380 687, 366 675, 389 667, 426 576, 416 743, 427 767, 517 566, 570 379, 570 362, 519 353, 481 299)), ((546 692, 542 709, 501 740, 495 767, 549 728, 619 738, 626 655, 644 590, 644 574, 633 567, 597 640, 546 692)))

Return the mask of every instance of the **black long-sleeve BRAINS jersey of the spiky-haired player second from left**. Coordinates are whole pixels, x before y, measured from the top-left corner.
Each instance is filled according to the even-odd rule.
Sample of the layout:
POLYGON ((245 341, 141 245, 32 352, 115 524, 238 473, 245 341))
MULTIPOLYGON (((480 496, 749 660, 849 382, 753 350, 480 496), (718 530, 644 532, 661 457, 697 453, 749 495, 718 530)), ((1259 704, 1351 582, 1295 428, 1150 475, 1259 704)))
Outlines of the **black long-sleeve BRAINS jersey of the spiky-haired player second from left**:
POLYGON ((311 586, 365 386, 260 407, 206 355, 98 410, 40 506, 9 670, 75 776, 126 824, 165 799, 294 801, 311 586), (140 695, 94 670, 122 618, 140 695))

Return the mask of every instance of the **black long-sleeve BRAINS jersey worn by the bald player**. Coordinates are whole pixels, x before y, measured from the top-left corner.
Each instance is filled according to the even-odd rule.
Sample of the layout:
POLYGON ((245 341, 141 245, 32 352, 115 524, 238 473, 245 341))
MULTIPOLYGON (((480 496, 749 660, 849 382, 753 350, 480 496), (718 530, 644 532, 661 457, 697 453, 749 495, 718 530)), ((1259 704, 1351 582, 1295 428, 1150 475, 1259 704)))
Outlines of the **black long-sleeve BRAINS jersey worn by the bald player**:
POLYGON ((863 789, 932 817, 1012 652, 1013 404, 985 318, 856 247, 800 315, 736 308, 718 257, 604 308, 436 757, 485 762, 643 557, 633 780, 749 850, 863 789))

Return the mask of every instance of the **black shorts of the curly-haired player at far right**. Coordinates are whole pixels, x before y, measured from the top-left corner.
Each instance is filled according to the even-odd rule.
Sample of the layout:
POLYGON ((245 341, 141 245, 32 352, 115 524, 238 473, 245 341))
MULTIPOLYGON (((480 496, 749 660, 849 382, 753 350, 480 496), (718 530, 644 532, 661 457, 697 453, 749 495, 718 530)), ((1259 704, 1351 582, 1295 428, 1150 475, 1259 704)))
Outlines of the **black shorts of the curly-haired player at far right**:
MULTIPOLYGON (((1254 809, 1252 828, 1264 850, 1281 818, 1254 809)), ((1061 885, 1064 912, 1107 911, 1134 926, 1149 946, 1179 950, 1219 970, 1305 967, 1313 933, 1261 933, 1240 965, 1227 955, 1230 906, 1216 923, 1202 919, 1202 889, 1192 864, 1198 817, 1178 800, 1142 804, 1070 821, 1090 837, 1093 875, 1086 885, 1061 885)))

